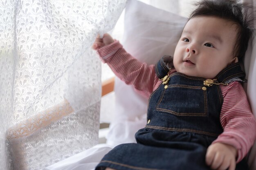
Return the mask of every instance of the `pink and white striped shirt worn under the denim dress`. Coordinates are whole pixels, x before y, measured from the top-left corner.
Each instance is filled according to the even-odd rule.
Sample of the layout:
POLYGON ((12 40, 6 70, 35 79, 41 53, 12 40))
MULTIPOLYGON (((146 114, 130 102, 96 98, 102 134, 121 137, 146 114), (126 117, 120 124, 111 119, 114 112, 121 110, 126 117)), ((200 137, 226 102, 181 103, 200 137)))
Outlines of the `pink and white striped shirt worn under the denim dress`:
MULTIPOLYGON (((98 53, 101 60, 110 66, 117 77, 126 84, 134 85, 138 93, 144 97, 149 98, 161 84, 155 74, 155 65, 139 62, 127 53, 118 41, 102 47, 98 53)), ((238 151, 236 159, 238 163, 254 144, 256 121, 240 82, 231 82, 220 88, 223 96, 220 123, 224 131, 213 143, 221 142, 234 146, 238 151)))

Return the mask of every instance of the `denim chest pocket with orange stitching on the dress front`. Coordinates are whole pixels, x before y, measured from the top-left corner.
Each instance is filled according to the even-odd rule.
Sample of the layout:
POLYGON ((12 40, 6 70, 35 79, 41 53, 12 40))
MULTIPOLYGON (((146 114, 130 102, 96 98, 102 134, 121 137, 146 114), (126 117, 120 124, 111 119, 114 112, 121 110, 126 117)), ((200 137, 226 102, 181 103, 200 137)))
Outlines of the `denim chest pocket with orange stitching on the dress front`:
POLYGON ((168 85, 162 91, 155 110, 176 116, 208 115, 207 90, 202 86, 168 85))

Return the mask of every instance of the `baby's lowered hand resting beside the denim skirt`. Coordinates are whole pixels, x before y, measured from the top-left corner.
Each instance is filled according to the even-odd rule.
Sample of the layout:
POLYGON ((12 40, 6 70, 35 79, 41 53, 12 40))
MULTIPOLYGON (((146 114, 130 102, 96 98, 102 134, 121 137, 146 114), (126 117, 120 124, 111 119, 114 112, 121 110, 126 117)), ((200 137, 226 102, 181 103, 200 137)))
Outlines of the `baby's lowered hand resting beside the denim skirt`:
POLYGON ((222 143, 211 144, 207 149, 205 161, 213 170, 235 170, 236 148, 222 143))

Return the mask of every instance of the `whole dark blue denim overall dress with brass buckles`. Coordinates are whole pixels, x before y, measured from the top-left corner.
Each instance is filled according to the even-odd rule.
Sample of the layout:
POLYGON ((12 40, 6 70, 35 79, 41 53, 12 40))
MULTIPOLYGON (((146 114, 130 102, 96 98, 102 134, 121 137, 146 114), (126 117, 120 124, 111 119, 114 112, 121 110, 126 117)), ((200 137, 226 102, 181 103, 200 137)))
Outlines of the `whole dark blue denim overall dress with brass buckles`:
MULTIPOLYGON (((150 96, 146 127, 135 134, 137 144, 116 146, 96 170, 211 170, 205 163, 206 151, 223 132, 220 86, 244 82, 245 74, 236 63, 214 80, 178 72, 168 75, 163 59, 155 66, 163 84, 150 96)), ((245 159, 236 170, 249 170, 245 159)))

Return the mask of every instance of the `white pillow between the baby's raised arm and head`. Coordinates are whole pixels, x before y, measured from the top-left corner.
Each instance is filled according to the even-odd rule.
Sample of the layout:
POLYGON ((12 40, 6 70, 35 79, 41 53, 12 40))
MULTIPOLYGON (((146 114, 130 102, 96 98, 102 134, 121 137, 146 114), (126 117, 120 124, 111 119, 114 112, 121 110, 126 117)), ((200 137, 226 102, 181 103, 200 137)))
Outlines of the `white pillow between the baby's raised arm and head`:
POLYGON ((187 18, 129 0, 121 41, 126 51, 148 64, 173 55, 187 18))

